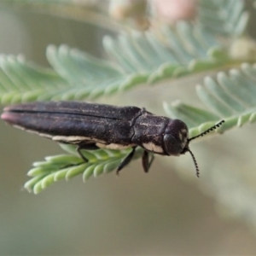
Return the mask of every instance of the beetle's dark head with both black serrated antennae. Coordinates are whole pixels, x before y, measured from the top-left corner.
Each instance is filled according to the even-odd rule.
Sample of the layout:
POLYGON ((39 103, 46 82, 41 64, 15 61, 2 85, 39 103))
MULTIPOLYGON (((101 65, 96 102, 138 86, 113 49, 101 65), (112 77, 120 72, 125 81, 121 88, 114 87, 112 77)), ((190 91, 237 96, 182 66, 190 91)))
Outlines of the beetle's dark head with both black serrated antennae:
POLYGON ((189 138, 189 129, 183 121, 179 119, 171 119, 169 124, 166 126, 166 131, 164 134, 164 148, 166 154, 169 155, 180 155, 189 152, 195 164, 196 176, 199 177, 199 168, 195 160, 195 155, 189 149, 190 141, 194 140, 197 137, 202 137, 208 132, 217 129, 220 125, 224 123, 224 120, 220 121, 218 124, 213 125, 207 131, 203 131, 201 134, 189 138))

